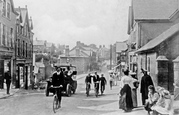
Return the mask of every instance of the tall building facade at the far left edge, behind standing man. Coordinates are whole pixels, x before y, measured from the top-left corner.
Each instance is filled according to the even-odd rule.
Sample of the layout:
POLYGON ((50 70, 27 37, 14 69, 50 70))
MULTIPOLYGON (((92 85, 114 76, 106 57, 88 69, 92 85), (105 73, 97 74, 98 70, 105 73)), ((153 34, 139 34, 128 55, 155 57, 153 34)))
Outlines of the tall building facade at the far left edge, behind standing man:
POLYGON ((0 1, 0 88, 3 88, 6 71, 10 71, 14 85, 14 40, 17 15, 12 0, 0 1))

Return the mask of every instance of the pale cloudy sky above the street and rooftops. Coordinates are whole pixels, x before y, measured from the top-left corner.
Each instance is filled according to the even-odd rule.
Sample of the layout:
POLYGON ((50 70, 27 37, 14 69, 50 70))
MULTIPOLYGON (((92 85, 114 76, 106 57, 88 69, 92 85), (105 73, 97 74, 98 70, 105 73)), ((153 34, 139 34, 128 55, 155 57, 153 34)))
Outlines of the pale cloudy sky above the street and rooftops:
POLYGON ((131 0, 14 0, 15 8, 27 5, 33 20, 34 39, 69 45, 109 47, 128 39, 131 0))

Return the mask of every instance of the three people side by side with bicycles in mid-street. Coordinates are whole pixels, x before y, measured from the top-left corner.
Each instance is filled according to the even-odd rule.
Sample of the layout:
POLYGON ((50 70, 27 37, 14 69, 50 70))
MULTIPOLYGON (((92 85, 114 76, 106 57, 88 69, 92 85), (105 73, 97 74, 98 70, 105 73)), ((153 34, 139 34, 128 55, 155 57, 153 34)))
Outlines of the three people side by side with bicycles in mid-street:
MULTIPOLYGON (((97 92, 99 92, 99 85, 101 89, 101 94, 104 93, 105 85, 107 84, 106 78, 104 77, 104 74, 101 74, 101 77, 97 74, 97 72, 94 73, 94 76, 89 73, 85 78, 86 83, 86 91, 87 91, 87 85, 89 85, 89 89, 92 84, 92 79, 94 83, 94 87, 96 88, 97 92)), ((87 93, 87 92, 86 92, 87 93)))

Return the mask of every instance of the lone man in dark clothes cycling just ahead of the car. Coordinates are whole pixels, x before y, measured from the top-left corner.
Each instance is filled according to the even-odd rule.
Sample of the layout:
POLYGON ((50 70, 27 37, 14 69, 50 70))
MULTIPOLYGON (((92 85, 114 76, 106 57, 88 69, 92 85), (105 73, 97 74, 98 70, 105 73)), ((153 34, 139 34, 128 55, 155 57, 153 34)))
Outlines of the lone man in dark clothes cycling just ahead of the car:
MULTIPOLYGON (((59 86, 63 87, 64 85, 64 75, 63 72, 61 71, 60 67, 57 67, 57 72, 55 72, 52 76, 52 86, 59 86)), ((57 90, 57 96, 59 100, 59 107, 61 107, 61 89, 56 89, 57 90)))

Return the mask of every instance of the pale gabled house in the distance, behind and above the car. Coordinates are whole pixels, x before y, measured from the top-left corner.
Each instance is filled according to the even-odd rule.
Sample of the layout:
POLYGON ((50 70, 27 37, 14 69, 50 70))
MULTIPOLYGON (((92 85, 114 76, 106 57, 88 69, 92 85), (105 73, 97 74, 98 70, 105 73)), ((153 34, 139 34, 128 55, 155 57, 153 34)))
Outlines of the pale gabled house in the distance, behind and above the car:
MULTIPOLYGON (((59 60, 61 64, 75 65, 78 73, 83 73, 89 71, 92 55, 95 55, 96 51, 97 48, 89 47, 78 41, 71 50, 69 50, 69 46, 66 46, 65 54, 59 55, 59 60)), ((96 60, 96 56, 94 59, 96 60)))

